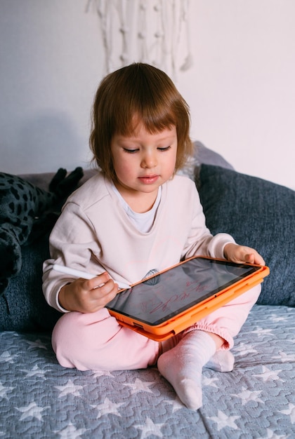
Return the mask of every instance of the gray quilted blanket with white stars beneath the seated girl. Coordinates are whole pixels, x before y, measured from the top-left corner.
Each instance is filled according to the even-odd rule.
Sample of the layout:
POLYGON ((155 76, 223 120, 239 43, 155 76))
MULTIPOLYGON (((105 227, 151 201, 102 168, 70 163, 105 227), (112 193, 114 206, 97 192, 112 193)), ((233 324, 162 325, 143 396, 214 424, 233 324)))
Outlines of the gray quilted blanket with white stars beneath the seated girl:
POLYGON ((254 306, 235 369, 204 368, 195 412, 156 367, 69 370, 48 334, 0 332, 0 438, 294 438, 294 337, 294 308, 254 306))

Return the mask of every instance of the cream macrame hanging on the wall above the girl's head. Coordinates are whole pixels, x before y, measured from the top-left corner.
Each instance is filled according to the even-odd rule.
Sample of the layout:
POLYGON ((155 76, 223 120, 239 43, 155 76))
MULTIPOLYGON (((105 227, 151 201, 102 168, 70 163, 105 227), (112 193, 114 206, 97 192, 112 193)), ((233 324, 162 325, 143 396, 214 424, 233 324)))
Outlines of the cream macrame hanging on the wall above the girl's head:
POLYGON ((98 14, 105 53, 105 73, 147 62, 174 80, 192 66, 190 0, 88 0, 98 14))

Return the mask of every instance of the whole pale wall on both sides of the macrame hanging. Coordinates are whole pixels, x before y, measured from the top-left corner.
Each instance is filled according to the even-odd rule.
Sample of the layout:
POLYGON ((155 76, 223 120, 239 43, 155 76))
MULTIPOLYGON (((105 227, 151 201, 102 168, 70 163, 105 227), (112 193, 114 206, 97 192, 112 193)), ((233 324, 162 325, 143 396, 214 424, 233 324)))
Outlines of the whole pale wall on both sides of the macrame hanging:
MULTIPOLYGON (((0 0, 2 172, 87 166, 90 108, 104 74, 87 3, 0 0)), ((194 65, 176 78, 193 139, 240 172, 292 189, 294 17, 294 0, 190 0, 194 65)))

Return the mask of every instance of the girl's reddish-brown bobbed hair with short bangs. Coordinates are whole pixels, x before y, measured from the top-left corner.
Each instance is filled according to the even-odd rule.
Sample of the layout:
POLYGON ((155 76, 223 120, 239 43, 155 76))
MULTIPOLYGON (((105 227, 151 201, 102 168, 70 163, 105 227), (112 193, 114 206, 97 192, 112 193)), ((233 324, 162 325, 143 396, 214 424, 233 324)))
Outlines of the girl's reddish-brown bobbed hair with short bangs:
POLYGON ((89 140, 93 161, 108 177, 115 179, 112 137, 131 135, 135 116, 150 133, 176 127, 176 170, 182 168, 192 156, 188 104, 166 73, 140 62, 108 74, 98 87, 89 140))

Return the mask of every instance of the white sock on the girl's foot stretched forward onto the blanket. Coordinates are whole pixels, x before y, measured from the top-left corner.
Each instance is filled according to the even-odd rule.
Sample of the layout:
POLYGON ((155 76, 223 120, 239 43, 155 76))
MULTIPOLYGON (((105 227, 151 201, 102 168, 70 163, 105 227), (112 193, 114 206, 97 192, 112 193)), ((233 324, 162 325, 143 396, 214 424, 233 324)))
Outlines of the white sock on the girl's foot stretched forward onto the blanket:
POLYGON ((159 372, 192 410, 202 407, 202 368, 215 352, 214 339, 206 332, 193 330, 173 349, 159 356, 159 372))

